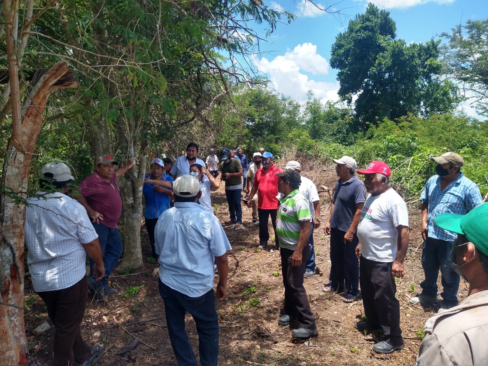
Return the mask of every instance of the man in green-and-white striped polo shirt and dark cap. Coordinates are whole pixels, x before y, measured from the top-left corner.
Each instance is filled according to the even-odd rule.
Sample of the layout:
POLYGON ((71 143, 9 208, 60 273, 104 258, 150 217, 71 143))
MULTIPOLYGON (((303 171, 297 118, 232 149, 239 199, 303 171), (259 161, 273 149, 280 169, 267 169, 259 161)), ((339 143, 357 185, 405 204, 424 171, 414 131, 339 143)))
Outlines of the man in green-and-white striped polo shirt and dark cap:
POLYGON ((287 169, 275 175, 279 177, 278 191, 285 196, 280 201, 276 225, 285 285, 285 308, 278 324, 291 325, 291 322, 296 322, 298 327, 293 329, 291 336, 306 339, 319 334, 304 287, 305 264, 310 254, 310 208, 298 190, 301 178, 297 171, 287 169))

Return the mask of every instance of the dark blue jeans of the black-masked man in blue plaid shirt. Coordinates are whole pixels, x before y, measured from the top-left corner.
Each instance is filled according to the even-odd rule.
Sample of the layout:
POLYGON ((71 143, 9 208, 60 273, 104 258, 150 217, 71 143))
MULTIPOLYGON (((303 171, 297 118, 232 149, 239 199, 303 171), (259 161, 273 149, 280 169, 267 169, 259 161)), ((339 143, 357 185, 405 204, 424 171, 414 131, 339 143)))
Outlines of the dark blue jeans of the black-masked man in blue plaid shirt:
POLYGON ((422 267, 426 279, 420 283, 422 294, 437 298, 437 277, 441 270, 441 284, 443 291, 441 297, 443 304, 449 307, 458 304, 457 291, 459 288, 459 275, 452 269, 451 249, 454 242, 432 239, 422 246, 422 267))

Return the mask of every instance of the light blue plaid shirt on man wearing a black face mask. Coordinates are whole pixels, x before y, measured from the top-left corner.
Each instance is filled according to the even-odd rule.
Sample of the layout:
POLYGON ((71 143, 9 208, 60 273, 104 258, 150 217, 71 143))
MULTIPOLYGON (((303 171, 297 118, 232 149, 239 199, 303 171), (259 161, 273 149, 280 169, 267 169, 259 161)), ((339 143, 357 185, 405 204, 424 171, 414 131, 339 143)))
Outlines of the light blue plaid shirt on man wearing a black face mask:
POLYGON ((434 225, 435 218, 441 213, 466 215, 474 207, 483 204, 478 186, 464 176, 449 183, 441 192, 442 179, 438 175, 429 178, 420 195, 420 200, 427 203, 427 236, 432 239, 453 242, 457 234, 434 225))

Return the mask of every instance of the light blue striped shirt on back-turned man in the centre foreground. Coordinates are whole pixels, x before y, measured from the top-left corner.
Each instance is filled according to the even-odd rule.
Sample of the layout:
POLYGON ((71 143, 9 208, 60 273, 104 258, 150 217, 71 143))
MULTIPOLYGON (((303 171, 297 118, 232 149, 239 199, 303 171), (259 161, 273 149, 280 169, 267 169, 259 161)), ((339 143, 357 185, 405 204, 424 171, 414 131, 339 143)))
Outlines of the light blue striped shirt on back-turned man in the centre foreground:
POLYGON ((190 297, 213 288, 214 260, 232 249, 219 220, 198 203, 175 202, 154 230, 163 284, 190 297))

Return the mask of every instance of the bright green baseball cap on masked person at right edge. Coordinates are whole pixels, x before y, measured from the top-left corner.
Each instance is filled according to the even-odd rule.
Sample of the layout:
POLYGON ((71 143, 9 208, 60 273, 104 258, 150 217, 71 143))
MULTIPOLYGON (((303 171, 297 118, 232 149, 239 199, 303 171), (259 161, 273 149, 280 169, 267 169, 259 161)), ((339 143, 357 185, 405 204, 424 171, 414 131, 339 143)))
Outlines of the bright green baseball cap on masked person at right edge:
POLYGON ((473 208, 466 215, 440 214, 434 223, 448 231, 463 234, 476 249, 488 256, 488 203, 473 208))

